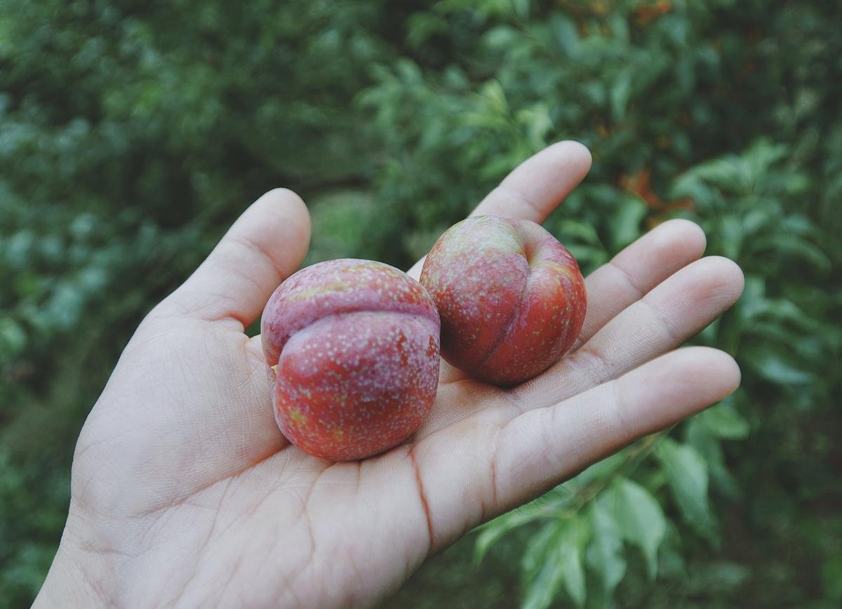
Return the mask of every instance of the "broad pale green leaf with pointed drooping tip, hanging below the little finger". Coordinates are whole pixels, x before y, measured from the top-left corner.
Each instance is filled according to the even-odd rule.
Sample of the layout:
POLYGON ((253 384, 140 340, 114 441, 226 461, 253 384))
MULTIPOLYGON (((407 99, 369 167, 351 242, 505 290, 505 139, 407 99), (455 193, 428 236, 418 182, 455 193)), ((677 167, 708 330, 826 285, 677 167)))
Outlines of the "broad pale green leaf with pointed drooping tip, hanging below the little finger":
POLYGON ((666 519, 657 499, 640 484, 621 479, 605 491, 604 500, 623 539, 641 549, 647 573, 654 579, 658 574, 658 547, 666 531, 666 519))

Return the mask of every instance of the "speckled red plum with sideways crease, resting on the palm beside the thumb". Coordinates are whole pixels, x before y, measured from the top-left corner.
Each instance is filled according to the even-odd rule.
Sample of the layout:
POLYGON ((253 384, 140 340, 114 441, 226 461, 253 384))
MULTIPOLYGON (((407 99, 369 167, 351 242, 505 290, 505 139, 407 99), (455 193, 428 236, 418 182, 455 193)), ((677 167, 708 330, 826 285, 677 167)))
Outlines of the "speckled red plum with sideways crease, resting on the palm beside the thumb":
POLYGON ((370 260, 291 275, 261 318, 281 432, 331 461, 397 446, 421 425, 439 380, 440 321, 424 287, 370 260))

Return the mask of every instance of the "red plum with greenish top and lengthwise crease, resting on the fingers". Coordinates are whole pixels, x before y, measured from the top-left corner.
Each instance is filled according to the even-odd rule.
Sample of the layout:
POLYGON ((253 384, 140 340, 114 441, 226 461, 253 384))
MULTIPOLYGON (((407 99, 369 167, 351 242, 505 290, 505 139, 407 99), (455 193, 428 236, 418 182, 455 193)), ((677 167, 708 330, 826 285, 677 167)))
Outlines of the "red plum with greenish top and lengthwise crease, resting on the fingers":
POLYGON ((573 255, 517 218, 472 216, 450 227, 424 261, 421 283, 439 309, 442 357, 500 387, 561 359, 587 307, 573 255))

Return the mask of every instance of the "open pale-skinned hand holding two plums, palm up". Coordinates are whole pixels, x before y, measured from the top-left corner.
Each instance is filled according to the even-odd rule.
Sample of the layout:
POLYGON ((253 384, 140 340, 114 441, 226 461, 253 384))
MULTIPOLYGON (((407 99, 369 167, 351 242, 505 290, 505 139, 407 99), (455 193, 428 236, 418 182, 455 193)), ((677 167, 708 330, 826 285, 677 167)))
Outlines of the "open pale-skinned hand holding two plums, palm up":
MULTIPOLYGON (((474 213, 541 222, 589 165, 556 144, 474 213)), ((36 605, 367 606, 474 526, 738 386, 728 355, 674 349, 737 300, 742 273, 671 221, 588 277, 578 348, 540 377, 504 391, 443 364, 411 441, 309 457, 275 426, 259 337, 243 333, 309 232, 301 200, 269 192, 143 320, 79 438, 36 605)))

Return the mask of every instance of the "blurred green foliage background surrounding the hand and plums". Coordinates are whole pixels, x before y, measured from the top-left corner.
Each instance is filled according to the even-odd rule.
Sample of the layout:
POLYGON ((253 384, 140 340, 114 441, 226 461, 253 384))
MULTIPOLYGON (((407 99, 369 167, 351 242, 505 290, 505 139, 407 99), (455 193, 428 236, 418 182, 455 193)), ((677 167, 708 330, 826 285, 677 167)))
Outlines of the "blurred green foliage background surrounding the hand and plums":
POLYGON ((842 9, 761 0, 3 0, 0 605, 61 534, 73 445, 144 313, 265 190, 307 262, 408 267, 558 139, 593 270, 701 223, 746 291, 695 339, 743 387, 429 561, 389 607, 842 603, 842 9))

